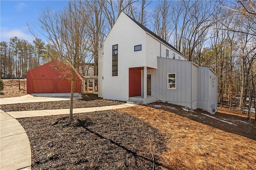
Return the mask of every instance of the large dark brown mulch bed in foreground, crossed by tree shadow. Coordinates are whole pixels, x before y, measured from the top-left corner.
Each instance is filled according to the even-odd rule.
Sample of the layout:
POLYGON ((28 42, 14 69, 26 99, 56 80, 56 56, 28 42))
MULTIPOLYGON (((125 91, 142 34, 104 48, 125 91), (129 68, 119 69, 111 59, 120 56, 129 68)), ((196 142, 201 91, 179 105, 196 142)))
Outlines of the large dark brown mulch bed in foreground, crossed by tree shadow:
MULTIPOLYGON (((18 119, 28 134, 32 169, 161 169, 163 135, 113 110, 18 119), (154 159, 153 159, 154 158, 154 159)), ((168 167, 167 167, 168 168, 168 167)))

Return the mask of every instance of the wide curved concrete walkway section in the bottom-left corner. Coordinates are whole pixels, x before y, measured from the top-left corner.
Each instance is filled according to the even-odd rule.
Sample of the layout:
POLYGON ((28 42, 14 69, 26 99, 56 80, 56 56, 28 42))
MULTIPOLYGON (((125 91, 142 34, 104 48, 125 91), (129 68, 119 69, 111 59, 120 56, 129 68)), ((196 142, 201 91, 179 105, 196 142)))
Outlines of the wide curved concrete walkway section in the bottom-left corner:
POLYGON ((0 169, 31 169, 30 142, 20 123, 0 110, 0 169))

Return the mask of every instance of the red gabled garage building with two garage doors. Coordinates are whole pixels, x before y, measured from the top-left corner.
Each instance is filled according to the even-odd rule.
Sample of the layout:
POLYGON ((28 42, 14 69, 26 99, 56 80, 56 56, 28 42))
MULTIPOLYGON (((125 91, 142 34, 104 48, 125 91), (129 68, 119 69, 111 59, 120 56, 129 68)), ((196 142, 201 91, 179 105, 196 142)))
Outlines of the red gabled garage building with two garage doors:
MULTIPOLYGON (((58 60, 27 72, 27 93, 70 93, 71 68, 58 60)), ((81 75, 75 77, 74 93, 81 93, 81 75)))

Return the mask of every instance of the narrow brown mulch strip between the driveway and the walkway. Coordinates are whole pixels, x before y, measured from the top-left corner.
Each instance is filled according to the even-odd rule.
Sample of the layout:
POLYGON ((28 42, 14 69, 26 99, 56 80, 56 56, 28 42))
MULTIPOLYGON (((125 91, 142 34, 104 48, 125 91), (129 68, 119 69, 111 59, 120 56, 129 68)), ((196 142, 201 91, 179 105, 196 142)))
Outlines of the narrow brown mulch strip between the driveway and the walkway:
MULTIPOLYGON (((124 102, 111 101, 111 100, 105 100, 105 99, 97 99, 97 100, 91 100, 91 101, 76 99, 73 101, 73 108, 75 109, 75 108, 85 108, 85 107, 100 107, 100 106, 111 106, 111 105, 121 105, 121 104, 124 104, 124 102)), ((1 110, 5 112, 69 109, 69 108, 70 108, 69 100, 1 105, 1 110)))

